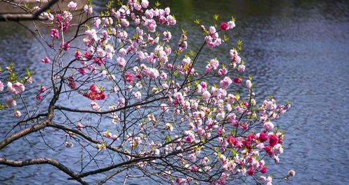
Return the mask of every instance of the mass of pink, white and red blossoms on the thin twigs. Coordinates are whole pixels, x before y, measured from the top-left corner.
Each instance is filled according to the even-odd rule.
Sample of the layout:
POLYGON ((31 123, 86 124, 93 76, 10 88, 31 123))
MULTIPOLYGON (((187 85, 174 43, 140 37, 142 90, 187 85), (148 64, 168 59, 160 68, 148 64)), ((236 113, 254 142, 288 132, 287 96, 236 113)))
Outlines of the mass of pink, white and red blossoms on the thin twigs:
MULTIPOLYGON (((234 29, 233 19, 209 29, 200 25, 203 44, 195 54, 188 49, 190 35, 186 31, 171 33, 177 21, 170 8, 158 8, 157 3, 154 8, 149 8, 147 0, 128 0, 117 8, 108 5, 101 16, 89 17, 86 26, 80 24, 77 36, 69 40, 66 32, 75 16, 70 11, 76 9, 77 3, 68 3, 68 10, 55 15, 55 27, 50 28, 49 47, 59 52, 62 60, 50 61, 45 56, 42 62, 56 67, 52 86, 57 83, 59 87, 52 87, 54 93, 61 90, 59 93, 74 101, 83 95, 92 109, 64 111, 73 110, 82 117, 84 113, 98 114, 91 118, 100 119, 98 124, 91 121, 87 127, 80 119, 75 125, 74 118, 68 123, 83 138, 95 134, 92 145, 98 154, 110 150, 123 160, 139 160, 134 164, 137 169, 147 169, 171 184, 195 180, 225 184, 235 179, 272 184, 267 158, 279 163, 283 154, 284 132, 275 122, 290 103, 277 105, 270 98, 257 104, 253 79, 245 74, 240 56, 240 42, 225 58, 213 56, 205 63, 198 57, 203 47, 211 49, 227 41, 218 32, 234 29), (168 29, 159 32, 160 26, 168 29), (72 41, 80 38, 83 47, 75 47, 72 41), (59 48, 54 48, 55 42, 59 48), (77 49, 70 53, 70 48, 77 49), (63 56, 71 60, 63 60, 63 56)), ((83 9, 87 16, 93 13, 91 4, 83 9)), ((0 91, 3 88, 0 81, 0 91)), ((24 84, 8 81, 7 90, 18 95, 24 84)), ((37 99, 48 91, 40 86, 37 99)), ((11 98, 6 104, 15 106, 11 98)), ((64 142, 73 147, 66 138, 64 142)))

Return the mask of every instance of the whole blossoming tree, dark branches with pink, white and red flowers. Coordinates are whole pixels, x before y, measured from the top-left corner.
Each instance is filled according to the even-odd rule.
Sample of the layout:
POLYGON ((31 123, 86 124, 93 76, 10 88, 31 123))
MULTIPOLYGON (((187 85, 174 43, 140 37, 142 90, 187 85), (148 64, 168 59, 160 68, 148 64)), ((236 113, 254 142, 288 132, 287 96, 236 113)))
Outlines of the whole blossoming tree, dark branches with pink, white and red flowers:
MULTIPOLYGON (((1 157, 1 165, 49 164, 81 184, 89 177, 96 184, 113 177, 272 184, 267 165, 279 163, 284 140, 274 123, 290 103, 255 99, 253 79, 244 74, 239 56, 241 42, 231 46, 229 61, 200 58, 205 47, 230 45, 220 34, 235 29, 234 19, 215 17, 212 26, 195 20, 202 42, 192 51, 186 31, 168 31, 177 21, 159 3, 151 8, 147 0, 110 1, 99 15, 90 2, 76 9, 71 1, 59 12, 40 13, 45 20, 34 22, 36 35, 50 50, 38 61, 50 72, 47 84, 37 84, 29 70, 16 72, 15 63, 0 70, 0 95, 6 97, 0 108, 13 112, 8 115, 13 127, 2 136, 0 151, 29 134, 50 131, 61 147, 76 150, 69 160, 81 165, 72 168, 45 156, 1 157), (205 70, 197 68, 200 63, 207 63, 205 70), (28 89, 36 94, 26 94, 28 89), (66 104, 71 101, 89 106, 66 104)), ((53 150, 45 139, 40 143, 53 150)), ((294 175, 290 170, 284 178, 294 175)))

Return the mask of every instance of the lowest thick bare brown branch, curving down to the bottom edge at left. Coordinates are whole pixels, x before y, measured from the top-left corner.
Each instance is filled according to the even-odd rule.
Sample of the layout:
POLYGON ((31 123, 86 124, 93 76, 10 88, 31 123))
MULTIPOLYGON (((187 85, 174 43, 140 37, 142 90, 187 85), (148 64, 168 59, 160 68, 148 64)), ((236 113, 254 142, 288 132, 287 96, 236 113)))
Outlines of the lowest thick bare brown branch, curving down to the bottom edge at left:
POLYGON ((88 184, 87 182, 84 182, 80 177, 78 177, 75 174, 75 172, 70 170, 68 167, 59 163, 59 161, 56 161, 56 160, 50 159, 50 158, 35 158, 35 159, 27 159, 24 161, 11 161, 11 160, 7 160, 5 158, 0 158, 0 164, 6 165, 6 166, 13 166, 13 167, 30 166, 30 165, 36 165, 36 164, 50 164, 50 165, 58 168, 59 170, 65 172, 67 175, 69 175, 73 179, 77 180, 81 184, 88 184))

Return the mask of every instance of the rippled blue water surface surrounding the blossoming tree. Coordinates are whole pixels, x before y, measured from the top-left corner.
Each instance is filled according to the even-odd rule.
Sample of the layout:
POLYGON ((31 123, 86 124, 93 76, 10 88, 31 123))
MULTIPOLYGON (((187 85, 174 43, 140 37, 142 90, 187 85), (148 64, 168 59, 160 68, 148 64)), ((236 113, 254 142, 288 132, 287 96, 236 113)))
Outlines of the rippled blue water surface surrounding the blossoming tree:
MULTIPOLYGON (((349 184, 347 1, 172 0, 163 2, 162 6, 170 6, 177 17, 174 31, 188 30, 193 50, 202 43, 194 18, 200 17, 202 24, 208 26, 214 14, 219 14, 222 20, 236 17, 237 27, 230 33, 230 42, 240 39, 244 43, 242 57, 246 61, 246 72, 253 76, 256 84, 256 97, 274 95, 280 103, 286 100, 292 103, 290 111, 277 122, 286 131, 285 153, 280 156, 279 165, 269 166, 276 177, 290 169, 296 171, 292 180, 281 181, 281 184, 349 184)), ((29 66, 36 83, 45 83, 47 69, 38 67, 42 66, 38 63, 43 52, 35 38, 15 23, 1 23, 0 28, 0 65, 16 61, 16 65, 29 66)), ((230 47, 205 49, 200 56, 202 66, 212 56, 226 60, 230 47)), ((3 118, 6 117, 0 112, 1 138, 12 121, 3 118)), ((39 136, 33 134, 28 138, 34 140, 39 136)), ((78 155, 67 152, 64 146, 49 151, 38 150, 24 140, 15 144, 20 147, 10 147, 0 155, 25 159, 47 154, 59 157, 62 163, 69 163, 71 156, 78 155)), ((78 164, 68 164, 74 165, 78 164)), ((0 184, 44 182, 62 184, 66 182, 66 175, 48 166, 21 169, 0 166, 0 184)))

